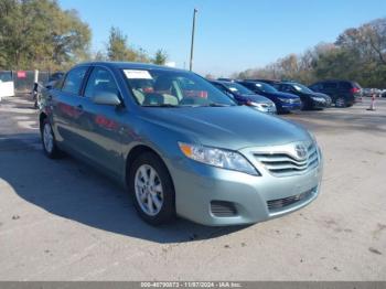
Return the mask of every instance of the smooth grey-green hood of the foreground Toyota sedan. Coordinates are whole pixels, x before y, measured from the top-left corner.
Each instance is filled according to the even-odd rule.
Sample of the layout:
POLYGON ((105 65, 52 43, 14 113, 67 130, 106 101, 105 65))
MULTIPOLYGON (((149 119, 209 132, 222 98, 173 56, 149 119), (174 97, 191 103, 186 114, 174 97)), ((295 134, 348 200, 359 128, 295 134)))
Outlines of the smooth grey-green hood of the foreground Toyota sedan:
POLYGON ((142 108, 142 120, 180 133, 181 141, 240 150, 309 140, 299 126, 248 107, 142 108))

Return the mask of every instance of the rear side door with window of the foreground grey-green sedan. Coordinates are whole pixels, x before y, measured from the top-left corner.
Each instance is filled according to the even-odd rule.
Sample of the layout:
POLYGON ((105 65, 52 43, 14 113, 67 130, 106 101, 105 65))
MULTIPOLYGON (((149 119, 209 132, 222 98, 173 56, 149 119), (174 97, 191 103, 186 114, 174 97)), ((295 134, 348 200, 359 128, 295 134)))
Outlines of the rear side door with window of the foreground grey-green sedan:
POLYGON ((60 146, 78 152, 81 127, 87 121, 83 111, 83 98, 81 97, 88 66, 78 66, 69 71, 63 85, 58 89, 52 89, 49 99, 52 107, 52 125, 56 141, 60 146))

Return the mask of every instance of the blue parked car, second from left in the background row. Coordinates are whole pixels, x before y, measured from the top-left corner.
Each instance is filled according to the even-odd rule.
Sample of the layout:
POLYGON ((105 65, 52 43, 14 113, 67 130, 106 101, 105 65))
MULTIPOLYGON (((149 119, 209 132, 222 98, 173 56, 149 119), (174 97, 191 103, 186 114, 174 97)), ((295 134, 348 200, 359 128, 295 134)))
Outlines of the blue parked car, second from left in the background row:
POLYGON ((239 81, 237 83, 242 84, 254 93, 262 95, 272 100, 278 113, 290 113, 293 110, 299 110, 301 108, 301 100, 299 96, 281 93, 269 84, 248 81, 239 81))

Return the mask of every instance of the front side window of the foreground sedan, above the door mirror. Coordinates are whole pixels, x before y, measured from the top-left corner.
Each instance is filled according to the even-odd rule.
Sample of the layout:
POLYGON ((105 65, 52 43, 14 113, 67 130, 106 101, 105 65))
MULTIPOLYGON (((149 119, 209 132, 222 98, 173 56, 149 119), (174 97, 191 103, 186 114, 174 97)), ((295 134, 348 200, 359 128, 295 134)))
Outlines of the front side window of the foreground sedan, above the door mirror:
POLYGON ((94 97, 101 93, 118 95, 118 92, 117 84, 109 71, 101 67, 93 69, 85 89, 85 97, 94 97))

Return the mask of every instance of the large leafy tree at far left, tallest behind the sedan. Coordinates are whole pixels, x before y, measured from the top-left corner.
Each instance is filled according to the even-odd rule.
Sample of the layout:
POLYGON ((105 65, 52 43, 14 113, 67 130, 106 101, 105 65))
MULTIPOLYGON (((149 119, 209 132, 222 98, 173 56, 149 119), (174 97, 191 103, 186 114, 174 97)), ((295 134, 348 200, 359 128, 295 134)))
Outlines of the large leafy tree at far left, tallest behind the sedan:
POLYGON ((55 0, 0 0, 0 66, 69 66, 88 57, 90 30, 55 0))

